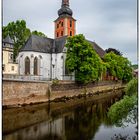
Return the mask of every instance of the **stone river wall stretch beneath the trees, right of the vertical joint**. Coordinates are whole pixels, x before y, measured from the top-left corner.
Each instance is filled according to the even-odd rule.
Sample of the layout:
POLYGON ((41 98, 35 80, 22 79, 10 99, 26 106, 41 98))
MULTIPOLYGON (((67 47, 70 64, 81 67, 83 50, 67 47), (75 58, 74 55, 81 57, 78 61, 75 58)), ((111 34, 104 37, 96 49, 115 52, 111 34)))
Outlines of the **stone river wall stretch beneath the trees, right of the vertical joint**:
POLYGON ((122 89, 124 87, 125 85, 122 85, 121 82, 116 83, 112 81, 102 81, 100 83, 93 83, 87 86, 77 86, 75 84, 58 84, 52 85, 50 99, 55 100, 62 97, 64 99, 68 99, 76 96, 94 96, 100 93, 122 89))

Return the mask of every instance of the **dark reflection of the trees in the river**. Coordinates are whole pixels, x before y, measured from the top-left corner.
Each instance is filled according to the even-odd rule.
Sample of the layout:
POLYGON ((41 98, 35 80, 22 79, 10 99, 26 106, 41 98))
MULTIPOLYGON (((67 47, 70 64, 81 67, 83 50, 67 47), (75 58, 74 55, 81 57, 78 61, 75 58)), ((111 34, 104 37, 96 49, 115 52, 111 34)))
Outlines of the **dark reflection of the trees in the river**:
POLYGON ((73 115, 65 117, 65 136, 67 140, 93 139, 103 122, 108 126, 111 124, 107 118, 108 107, 107 101, 93 104, 90 107, 82 105, 76 108, 73 115))

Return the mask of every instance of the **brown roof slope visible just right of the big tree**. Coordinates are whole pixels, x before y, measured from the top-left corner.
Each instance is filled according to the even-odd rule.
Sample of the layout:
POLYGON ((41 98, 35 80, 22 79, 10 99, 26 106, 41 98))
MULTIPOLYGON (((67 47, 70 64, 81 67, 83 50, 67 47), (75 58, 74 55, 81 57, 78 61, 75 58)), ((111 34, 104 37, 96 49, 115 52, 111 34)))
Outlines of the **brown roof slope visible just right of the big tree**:
POLYGON ((89 41, 89 40, 87 40, 87 41, 88 41, 89 43, 92 44, 92 46, 93 46, 94 50, 96 51, 96 53, 97 53, 101 58, 103 58, 104 55, 105 55, 105 51, 104 51, 99 45, 97 45, 95 42, 92 42, 92 41, 89 41))

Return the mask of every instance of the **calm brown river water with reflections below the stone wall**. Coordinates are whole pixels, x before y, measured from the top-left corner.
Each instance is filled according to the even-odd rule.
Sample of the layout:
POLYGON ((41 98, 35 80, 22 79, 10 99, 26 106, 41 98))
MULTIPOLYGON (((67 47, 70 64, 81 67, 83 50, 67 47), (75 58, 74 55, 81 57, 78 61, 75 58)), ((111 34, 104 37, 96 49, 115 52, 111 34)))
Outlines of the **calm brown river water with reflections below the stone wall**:
MULTIPOLYGON (((108 93, 110 94, 110 93, 108 93)), ((116 127, 107 118, 108 108, 120 95, 63 103, 26 106, 3 111, 3 140, 114 140, 133 137, 137 124, 116 127)))

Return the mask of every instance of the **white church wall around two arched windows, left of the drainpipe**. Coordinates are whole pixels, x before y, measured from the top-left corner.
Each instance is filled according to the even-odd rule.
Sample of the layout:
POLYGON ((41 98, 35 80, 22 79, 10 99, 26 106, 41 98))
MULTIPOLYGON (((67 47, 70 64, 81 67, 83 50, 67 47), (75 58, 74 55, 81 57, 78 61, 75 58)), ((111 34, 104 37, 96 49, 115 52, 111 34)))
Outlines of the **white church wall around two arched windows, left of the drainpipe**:
POLYGON ((25 58, 30 59, 30 75, 34 75, 34 58, 38 58, 38 74, 43 78, 51 78, 51 54, 39 53, 39 52, 20 52, 17 61, 19 63, 19 75, 25 75, 25 58))

